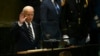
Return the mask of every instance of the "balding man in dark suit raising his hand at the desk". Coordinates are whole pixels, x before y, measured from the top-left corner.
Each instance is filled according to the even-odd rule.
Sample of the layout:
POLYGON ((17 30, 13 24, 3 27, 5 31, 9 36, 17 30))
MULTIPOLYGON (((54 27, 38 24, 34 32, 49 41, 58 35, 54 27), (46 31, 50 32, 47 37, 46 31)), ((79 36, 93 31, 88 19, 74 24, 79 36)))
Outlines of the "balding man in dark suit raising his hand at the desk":
POLYGON ((11 34, 14 40, 14 51, 23 51, 39 47, 39 27, 32 22, 34 8, 25 6, 19 16, 19 21, 15 22, 11 34), (29 29, 30 28, 30 29, 29 29))

